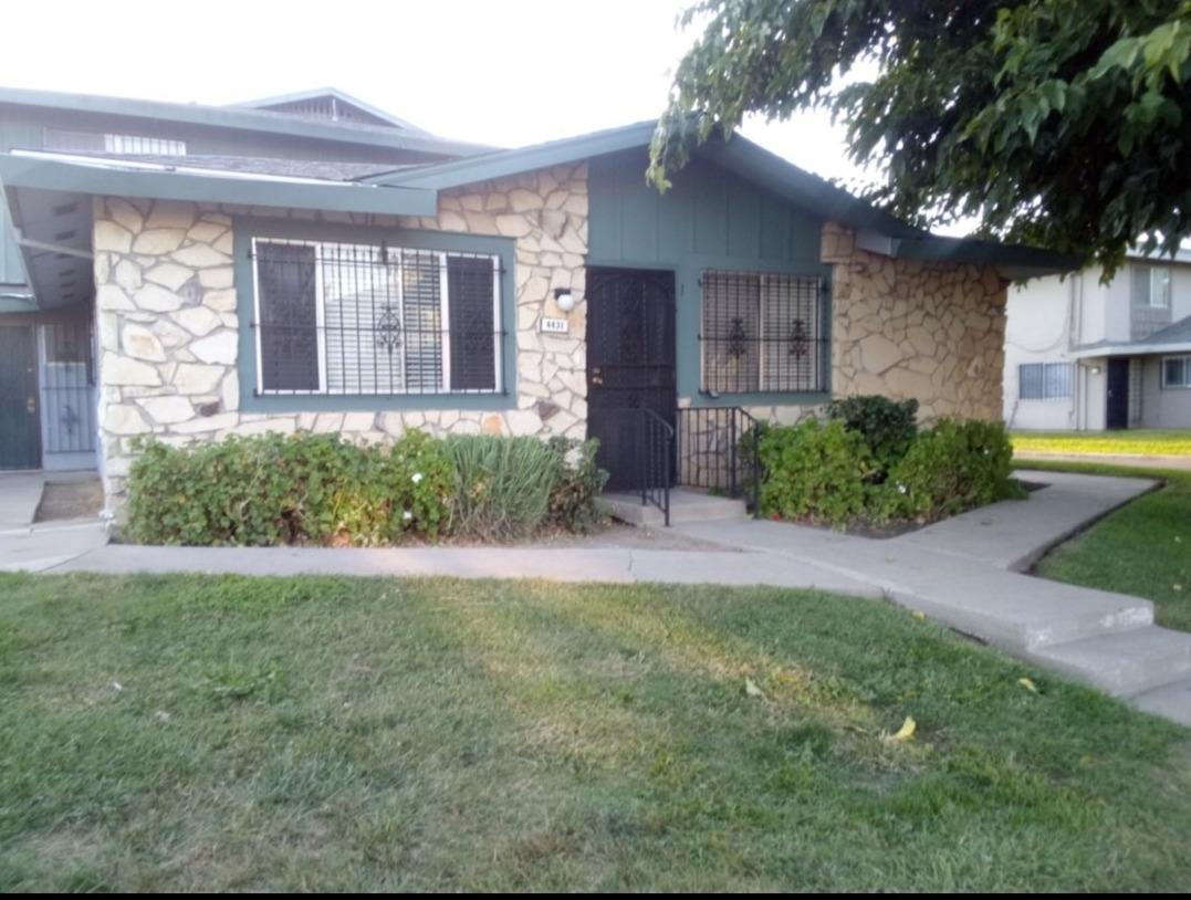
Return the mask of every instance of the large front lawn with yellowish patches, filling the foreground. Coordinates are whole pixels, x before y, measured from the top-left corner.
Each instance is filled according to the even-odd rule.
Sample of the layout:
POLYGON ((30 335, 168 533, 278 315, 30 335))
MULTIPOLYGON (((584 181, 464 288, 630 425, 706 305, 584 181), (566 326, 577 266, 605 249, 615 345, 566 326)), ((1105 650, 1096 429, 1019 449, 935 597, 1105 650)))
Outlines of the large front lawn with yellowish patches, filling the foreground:
POLYGON ((1174 890, 1187 835, 1191 733, 891 605, 0 575, 4 890, 1174 890))

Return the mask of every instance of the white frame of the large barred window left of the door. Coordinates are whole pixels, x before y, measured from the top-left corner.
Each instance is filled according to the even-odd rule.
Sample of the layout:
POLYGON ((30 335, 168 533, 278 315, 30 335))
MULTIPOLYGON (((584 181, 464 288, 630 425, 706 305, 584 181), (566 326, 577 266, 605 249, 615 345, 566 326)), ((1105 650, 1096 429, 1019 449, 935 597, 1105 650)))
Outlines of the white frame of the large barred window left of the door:
MULTIPOLYGON (((405 383, 405 377, 403 375, 403 390, 399 392, 373 392, 373 393, 350 393, 350 392, 335 392, 332 393, 328 388, 328 373, 326 373, 326 294, 323 283, 323 248, 326 244, 348 244, 355 246, 367 246, 375 248, 378 244, 368 243, 354 243, 347 240, 305 240, 305 239, 293 239, 293 238, 276 238, 276 237, 264 237, 257 236, 251 239, 252 245, 252 320, 255 323, 254 331, 254 346, 256 350, 256 393, 260 396, 467 396, 469 394, 488 395, 488 394, 500 394, 504 392, 504 339, 505 336, 500 330, 500 256, 497 254, 476 254, 468 251, 451 251, 451 250, 437 250, 431 251, 438 260, 438 271, 439 271, 439 290, 438 290, 438 302, 441 310, 441 330, 442 338, 439 340, 442 350, 442 379, 438 385, 437 393, 409 390, 405 383), (261 280, 260 280, 260 268, 256 263, 257 261, 257 245, 258 244, 286 244, 288 246, 312 246, 314 248, 314 321, 318 329, 318 389, 311 390, 266 390, 264 389, 264 354, 261 346, 261 280), (492 364, 494 367, 493 371, 493 387, 487 390, 451 390, 450 388, 450 296, 449 296, 449 275, 447 262, 451 256, 466 256, 469 258, 490 258, 492 261, 492 333, 494 340, 492 344, 492 364)), ((388 251, 398 251, 398 298, 401 306, 401 323, 405 323, 405 257, 404 250, 412 250, 414 252, 426 252, 424 249, 418 248, 405 248, 405 246, 389 246, 388 251)))

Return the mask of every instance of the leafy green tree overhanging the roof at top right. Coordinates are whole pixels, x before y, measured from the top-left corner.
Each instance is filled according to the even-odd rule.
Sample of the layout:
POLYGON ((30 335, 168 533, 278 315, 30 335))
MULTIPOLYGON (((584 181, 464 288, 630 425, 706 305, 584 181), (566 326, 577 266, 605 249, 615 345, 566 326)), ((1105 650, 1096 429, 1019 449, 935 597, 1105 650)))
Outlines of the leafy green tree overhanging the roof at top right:
POLYGON ((660 189, 747 113, 827 107, 850 156, 885 167, 868 199, 917 225, 977 217, 1110 270, 1191 232, 1189 0, 701 0, 694 21, 660 189))

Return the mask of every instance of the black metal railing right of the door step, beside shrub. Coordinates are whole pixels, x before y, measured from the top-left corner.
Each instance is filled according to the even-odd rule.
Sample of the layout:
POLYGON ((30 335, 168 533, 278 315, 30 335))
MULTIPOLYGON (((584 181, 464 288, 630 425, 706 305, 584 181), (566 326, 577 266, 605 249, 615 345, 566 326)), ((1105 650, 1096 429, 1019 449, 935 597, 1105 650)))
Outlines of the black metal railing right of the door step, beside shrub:
POLYGON ((678 483, 743 496, 755 514, 761 483, 757 419, 738 406, 704 406, 679 410, 676 421, 678 483))

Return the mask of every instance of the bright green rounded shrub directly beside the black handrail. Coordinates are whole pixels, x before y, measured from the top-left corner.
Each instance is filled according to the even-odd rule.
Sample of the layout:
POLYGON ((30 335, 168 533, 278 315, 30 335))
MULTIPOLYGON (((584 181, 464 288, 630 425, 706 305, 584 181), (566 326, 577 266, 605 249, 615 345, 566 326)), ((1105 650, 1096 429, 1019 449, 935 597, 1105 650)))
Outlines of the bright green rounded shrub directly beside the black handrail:
POLYGON ((842 421, 772 427, 760 452, 762 514, 842 526, 863 513, 865 481, 877 463, 863 437, 842 421))

